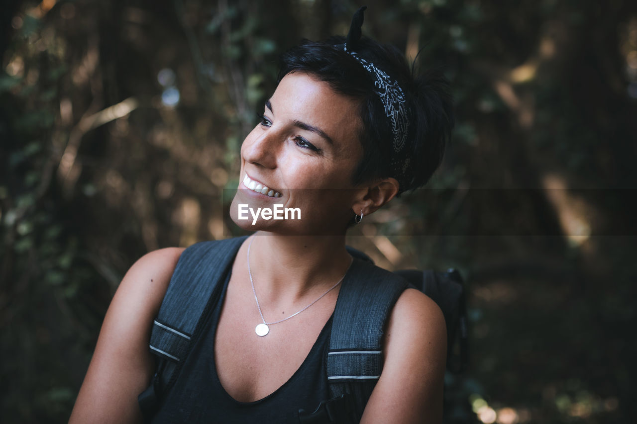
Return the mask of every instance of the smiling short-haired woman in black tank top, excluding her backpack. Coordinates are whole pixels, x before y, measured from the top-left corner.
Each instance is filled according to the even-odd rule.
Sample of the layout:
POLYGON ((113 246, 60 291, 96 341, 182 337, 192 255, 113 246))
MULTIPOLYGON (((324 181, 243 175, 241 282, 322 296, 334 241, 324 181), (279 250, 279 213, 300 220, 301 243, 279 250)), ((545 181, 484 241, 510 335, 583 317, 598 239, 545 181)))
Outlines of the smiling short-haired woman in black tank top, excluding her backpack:
MULTIPOLYGON (((154 422, 299 422, 327 400, 331 316, 352 257, 345 233, 397 194, 424 184, 452 127, 447 86, 413 78, 395 49, 345 38, 285 53, 279 83, 241 146, 234 221, 241 244, 214 305, 154 422), (239 208, 298 208, 301 219, 240 219, 239 208), (241 206, 244 205, 244 206, 241 206)), ((150 327, 183 249, 148 253, 108 309, 71 423, 141 420, 154 373, 150 327)), ((347 281, 347 278, 345 278, 347 281)), ((384 365, 364 423, 439 423, 443 315, 426 295, 399 295, 384 365)))

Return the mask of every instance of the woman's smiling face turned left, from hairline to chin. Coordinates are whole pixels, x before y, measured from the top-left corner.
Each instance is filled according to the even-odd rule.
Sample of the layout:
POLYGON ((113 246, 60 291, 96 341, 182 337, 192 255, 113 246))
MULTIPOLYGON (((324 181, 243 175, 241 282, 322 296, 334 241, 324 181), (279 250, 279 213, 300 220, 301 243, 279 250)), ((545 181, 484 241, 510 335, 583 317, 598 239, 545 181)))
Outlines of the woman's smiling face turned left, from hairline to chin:
POLYGON ((352 176, 362 157, 358 110, 359 102, 327 83, 306 73, 287 74, 241 146, 241 183, 231 207, 234 222, 247 230, 283 234, 345 232, 354 216, 352 176), (238 219, 240 204, 254 212, 275 204, 299 208, 301 220, 259 216, 252 225, 250 212, 247 220, 238 219))

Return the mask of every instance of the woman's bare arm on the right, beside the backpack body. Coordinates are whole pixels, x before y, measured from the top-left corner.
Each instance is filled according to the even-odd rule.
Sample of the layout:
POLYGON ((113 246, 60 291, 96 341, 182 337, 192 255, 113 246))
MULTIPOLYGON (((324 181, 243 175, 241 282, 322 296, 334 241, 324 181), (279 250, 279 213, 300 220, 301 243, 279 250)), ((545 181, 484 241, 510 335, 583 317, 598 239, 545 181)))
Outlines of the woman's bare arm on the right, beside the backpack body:
POLYGON ((398 298, 387 325, 385 364, 361 423, 442 422, 447 327, 440 307, 415 289, 398 298))

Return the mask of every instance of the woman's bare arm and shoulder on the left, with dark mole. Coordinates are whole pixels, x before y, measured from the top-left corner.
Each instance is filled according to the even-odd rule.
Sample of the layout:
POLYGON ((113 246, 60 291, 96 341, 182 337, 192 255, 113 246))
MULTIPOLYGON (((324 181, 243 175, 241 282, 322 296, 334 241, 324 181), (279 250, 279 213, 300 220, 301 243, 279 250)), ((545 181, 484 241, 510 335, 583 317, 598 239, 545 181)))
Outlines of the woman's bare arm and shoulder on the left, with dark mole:
POLYGON ((182 251, 148 253, 122 279, 104 317, 70 424, 141 421, 137 396, 154 372, 148 353, 150 329, 182 251))

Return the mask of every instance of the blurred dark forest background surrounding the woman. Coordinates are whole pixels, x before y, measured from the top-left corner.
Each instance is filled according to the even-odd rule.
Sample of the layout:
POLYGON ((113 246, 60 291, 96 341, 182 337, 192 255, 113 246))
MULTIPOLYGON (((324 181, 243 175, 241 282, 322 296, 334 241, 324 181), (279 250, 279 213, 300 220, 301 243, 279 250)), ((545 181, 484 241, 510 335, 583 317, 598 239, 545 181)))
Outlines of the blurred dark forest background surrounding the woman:
MULTIPOLYGON (((448 375, 448 422, 634 422, 637 2, 366 4, 364 34, 420 52, 455 95, 429 188, 350 237, 389 269, 466 279, 471 365, 448 375)), ((137 258, 236 232, 224 200, 278 54, 346 34, 358 6, 4 2, 3 422, 68 420, 137 258)))

